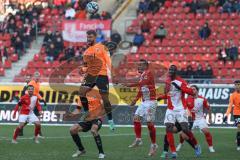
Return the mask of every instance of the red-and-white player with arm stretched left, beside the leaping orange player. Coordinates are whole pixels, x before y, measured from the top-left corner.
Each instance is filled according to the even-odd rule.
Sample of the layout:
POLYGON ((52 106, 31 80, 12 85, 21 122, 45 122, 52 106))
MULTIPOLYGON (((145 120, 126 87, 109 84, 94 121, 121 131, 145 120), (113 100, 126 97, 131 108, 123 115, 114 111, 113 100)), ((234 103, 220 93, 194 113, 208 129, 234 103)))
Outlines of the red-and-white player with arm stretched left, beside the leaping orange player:
POLYGON ((155 81, 152 72, 149 70, 149 64, 146 60, 140 60, 138 71, 141 74, 140 81, 134 84, 125 85, 127 87, 138 87, 139 91, 136 98, 130 104, 134 106, 142 98, 142 103, 138 106, 134 116, 135 141, 129 146, 137 147, 142 145, 141 139, 141 121, 147 121, 147 126, 151 138, 151 147, 149 156, 153 156, 158 148, 156 144, 156 129, 153 121, 157 107, 155 81))

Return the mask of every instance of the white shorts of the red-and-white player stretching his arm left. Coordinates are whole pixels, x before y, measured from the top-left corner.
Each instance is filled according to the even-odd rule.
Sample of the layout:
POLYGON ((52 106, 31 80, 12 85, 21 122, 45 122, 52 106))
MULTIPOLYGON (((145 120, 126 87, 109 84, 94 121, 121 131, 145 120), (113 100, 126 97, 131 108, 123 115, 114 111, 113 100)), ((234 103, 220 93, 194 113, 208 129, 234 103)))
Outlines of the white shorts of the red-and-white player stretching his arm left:
POLYGON ((157 101, 144 101, 138 106, 135 115, 142 117, 147 122, 152 122, 155 120, 156 109, 157 101))

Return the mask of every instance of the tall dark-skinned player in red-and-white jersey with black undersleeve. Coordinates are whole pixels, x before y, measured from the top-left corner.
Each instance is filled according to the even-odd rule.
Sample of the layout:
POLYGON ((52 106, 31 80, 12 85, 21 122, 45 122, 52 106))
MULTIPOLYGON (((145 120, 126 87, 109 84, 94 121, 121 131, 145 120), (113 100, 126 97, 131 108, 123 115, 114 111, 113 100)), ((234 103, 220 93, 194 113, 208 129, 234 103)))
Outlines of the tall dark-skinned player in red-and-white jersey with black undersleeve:
POLYGON ((175 65, 169 67, 168 75, 168 79, 165 82, 165 94, 158 97, 158 99, 167 99, 164 124, 166 126, 167 141, 172 152, 172 158, 175 159, 177 157, 173 136, 175 122, 180 124, 182 131, 189 137, 189 141, 194 144, 196 156, 200 156, 201 148, 188 127, 188 113, 185 100, 185 94, 194 95, 194 91, 188 87, 185 80, 177 76, 177 67, 175 65))

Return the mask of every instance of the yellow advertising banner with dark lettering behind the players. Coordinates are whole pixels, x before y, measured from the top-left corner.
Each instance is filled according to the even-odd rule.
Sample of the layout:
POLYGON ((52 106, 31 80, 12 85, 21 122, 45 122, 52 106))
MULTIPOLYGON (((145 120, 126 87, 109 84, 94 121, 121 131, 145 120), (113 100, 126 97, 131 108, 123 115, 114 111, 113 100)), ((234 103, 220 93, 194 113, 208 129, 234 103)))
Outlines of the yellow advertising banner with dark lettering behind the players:
MULTIPOLYGON (((24 84, 0 84, 0 101, 10 102, 14 95, 20 97, 23 94, 23 87, 24 84)), ((47 103, 73 103, 78 98, 79 87, 80 84, 41 84, 40 94, 47 103)), ((109 98, 113 105, 127 105, 135 98, 138 89, 110 85, 109 91, 109 98)), ((163 85, 157 87, 157 93, 163 93, 163 85)))

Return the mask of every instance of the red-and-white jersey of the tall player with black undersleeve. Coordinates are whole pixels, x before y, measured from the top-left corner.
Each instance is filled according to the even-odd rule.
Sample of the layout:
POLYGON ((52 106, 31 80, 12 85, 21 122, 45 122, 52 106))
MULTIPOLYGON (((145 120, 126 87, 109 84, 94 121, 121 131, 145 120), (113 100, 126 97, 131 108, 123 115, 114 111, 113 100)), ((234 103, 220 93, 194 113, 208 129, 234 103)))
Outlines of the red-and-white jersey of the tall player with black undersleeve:
POLYGON ((187 108, 185 94, 193 95, 192 88, 181 77, 174 80, 168 78, 165 82, 165 94, 159 98, 167 99, 167 107, 170 110, 183 110, 187 108))

